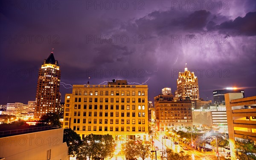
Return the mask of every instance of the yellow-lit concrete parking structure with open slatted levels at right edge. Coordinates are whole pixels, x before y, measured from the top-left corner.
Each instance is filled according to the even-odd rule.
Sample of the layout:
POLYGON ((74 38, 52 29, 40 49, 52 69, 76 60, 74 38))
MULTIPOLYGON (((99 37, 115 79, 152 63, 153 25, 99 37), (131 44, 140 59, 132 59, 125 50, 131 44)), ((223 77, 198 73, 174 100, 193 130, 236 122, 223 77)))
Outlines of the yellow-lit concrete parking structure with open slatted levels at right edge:
POLYGON ((231 158, 235 159, 235 141, 250 139, 256 143, 256 96, 225 94, 231 158))

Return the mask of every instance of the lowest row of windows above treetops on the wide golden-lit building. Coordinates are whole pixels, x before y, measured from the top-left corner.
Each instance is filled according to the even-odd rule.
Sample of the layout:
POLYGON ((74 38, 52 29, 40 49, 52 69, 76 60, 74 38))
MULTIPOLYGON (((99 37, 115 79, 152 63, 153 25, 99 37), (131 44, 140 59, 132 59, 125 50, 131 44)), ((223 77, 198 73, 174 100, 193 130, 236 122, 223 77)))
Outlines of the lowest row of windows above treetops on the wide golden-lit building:
MULTIPOLYGON (((68 123, 66 123, 65 125, 67 126, 68 123)), ((80 131, 80 126, 73 126, 73 130, 80 131)), ((83 126, 82 131, 86 131, 86 126, 83 126)), ((92 131, 91 126, 87 126, 87 131, 92 131)), ((93 131, 103 131, 102 126, 99 126, 99 130, 97 130, 97 126, 93 126, 93 131)), ((110 126, 109 130, 108 130, 108 127, 105 126, 104 131, 113 131, 113 126, 110 126)), ((116 126, 115 131, 125 131, 125 127, 121 127, 121 130, 119 130, 119 127, 116 126)), ((126 131, 130 131, 130 127, 126 127, 126 131)), ((135 127, 132 127, 132 131, 136 131, 135 127)), ((137 131, 145 131, 145 127, 138 127, 137 131)))

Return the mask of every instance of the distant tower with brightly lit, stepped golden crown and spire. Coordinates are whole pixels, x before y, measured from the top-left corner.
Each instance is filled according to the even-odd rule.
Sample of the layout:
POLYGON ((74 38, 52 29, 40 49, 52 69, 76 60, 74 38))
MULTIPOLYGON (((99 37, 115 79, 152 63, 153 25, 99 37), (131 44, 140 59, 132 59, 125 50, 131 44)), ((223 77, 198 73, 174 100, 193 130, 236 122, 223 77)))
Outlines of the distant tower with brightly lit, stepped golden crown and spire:
POLYGON ((198 78, 194 72, 185 68, 185 72, 179 72, 177 79, 177 98, 178 100, 186 100, 188 97, 190 100, 199 99, 198 78))

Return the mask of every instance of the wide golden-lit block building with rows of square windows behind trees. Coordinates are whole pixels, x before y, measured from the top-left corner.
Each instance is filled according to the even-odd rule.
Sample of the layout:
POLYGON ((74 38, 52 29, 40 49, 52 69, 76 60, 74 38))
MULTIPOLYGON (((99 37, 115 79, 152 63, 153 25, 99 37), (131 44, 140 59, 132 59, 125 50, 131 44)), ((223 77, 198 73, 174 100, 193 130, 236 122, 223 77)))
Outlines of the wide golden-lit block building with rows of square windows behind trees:
POLYGON ((108 85, 73 85, 65 95, 63 128, 82 138, 111 134, 115 140, 148 138, 148 86, 113 80, 108 85))

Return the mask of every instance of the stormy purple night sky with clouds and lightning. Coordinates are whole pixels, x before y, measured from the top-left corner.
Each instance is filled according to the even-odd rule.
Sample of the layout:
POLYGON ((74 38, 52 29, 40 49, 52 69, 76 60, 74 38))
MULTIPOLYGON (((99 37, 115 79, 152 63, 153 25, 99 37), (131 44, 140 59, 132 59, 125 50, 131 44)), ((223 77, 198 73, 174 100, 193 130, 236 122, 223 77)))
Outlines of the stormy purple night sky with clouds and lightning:
MULTIPOLYGON (((62 83, 148 80, 152 100, 164 87, 175 91, 187 63, 205 100, 230 86, 256 95, 255 0, 2 0, 0 104, 35 100, 52 48, 62 83)), ((64 101, 72 89, 60 91, 64 101)))

